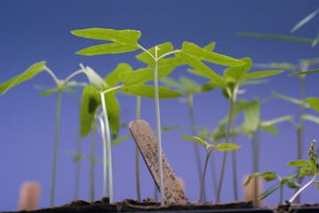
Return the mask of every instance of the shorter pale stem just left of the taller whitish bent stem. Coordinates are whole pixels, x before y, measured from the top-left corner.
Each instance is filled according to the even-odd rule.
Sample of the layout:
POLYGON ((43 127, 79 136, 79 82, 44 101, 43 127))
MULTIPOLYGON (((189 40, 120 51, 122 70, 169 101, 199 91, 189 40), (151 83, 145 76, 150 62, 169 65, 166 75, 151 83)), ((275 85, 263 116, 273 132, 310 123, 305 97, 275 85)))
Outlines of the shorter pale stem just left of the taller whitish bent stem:
POLYGON ((105 123, 101 116, 98 117, 98 121, 100 123, 102 141, 103 141, 103 190, 102 195, 106 196, 106 183, 107 183, 107 146, 106 146, 106 138, 105 138, 105 123))

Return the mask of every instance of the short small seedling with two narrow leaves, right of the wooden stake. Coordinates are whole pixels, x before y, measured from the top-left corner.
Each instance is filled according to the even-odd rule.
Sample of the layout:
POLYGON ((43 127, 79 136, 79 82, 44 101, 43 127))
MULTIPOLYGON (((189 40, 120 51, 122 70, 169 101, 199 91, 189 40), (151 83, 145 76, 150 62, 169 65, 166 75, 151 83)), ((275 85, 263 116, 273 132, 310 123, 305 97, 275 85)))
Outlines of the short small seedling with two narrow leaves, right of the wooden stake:
POLYGON ((220 143, 217 145, 213 145, 213 144, 207 143, 206 140, 203 138, 194 137, 194 136, 182 136, 181 138, 192 140, 192 141, 194 141, 194 142, 198 143, 199 145, 204 146, 206 148, 206 160, 205 160, 205 164, 204 164, 203 174, 201 176, 200 193, 199 193, 199 201, 203 201, 206 169, 207 169, 207 165, 209 162, 209 156, 212 154, 213 150, 218 150, 221 152, 229 152, 229 151, 237 150, 238 148, 240 148, 240 146, 238 146, 237 144, 233 144, 233 143, 220 143))

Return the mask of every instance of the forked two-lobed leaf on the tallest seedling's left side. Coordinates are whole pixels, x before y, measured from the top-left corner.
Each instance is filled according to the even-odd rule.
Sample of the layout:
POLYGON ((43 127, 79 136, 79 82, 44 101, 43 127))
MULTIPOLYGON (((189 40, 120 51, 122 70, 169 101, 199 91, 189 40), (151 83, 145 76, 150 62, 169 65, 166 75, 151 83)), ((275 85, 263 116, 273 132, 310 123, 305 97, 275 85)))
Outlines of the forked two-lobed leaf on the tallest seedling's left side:
POLYGON ((90 46, 76 52, 88 56, 136 51, 139 49, 137 41, 141 36, 141 32, 137 30, 114 30, 109 28, 78 29, 71 31, 71 33, 74 36, 111 42, 90 46))

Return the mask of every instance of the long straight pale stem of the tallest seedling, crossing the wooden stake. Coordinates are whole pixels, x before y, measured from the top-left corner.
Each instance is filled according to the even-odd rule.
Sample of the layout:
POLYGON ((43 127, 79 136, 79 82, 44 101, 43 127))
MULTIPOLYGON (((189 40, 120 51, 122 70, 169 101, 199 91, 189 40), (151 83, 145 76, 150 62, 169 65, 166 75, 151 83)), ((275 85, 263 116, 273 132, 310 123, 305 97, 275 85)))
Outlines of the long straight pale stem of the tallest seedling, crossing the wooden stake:
POLYGON ((161 146, 161 127, 160 127, 160 112, 159 112, 159 67, 157 60, 158 47, 155 47, 155 65, 154 65, 154 86, 155 86, 155 108, 156 108, 156 126, 158 138, 158 157, 159 157, 159 193, 160 204, 165 204, 164 195, 164 177, 163 177, 163 161, 162 161, 162 146, 161 146))

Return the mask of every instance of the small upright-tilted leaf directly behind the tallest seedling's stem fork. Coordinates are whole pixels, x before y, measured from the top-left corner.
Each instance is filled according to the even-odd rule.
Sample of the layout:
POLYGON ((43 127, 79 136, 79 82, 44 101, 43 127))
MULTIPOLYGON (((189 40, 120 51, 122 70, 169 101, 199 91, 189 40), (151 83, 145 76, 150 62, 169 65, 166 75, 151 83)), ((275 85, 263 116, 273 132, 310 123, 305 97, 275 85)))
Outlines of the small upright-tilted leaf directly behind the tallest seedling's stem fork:
MULTIPOLYGON (((160 43, 159 45, 156 45, 158 47, 158 51, 157 51, 157 57, 159 58, 160 56, 166 54, 167 52, 170 51, 174 51, 174 46, 172 43, 160 43)), ((152 56, 150 56, 149 53, 147 52, 142 52, 138 55, 136 55, 136 59, 144 62, 145 64, 147 64, 149 67, 153 67, 154 66, 154 58, 155 58, 155 47, 153 46, 151 49, 148 49, 147 51, 149 51, 149 53, 152 54, 152 56)))

